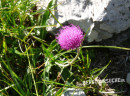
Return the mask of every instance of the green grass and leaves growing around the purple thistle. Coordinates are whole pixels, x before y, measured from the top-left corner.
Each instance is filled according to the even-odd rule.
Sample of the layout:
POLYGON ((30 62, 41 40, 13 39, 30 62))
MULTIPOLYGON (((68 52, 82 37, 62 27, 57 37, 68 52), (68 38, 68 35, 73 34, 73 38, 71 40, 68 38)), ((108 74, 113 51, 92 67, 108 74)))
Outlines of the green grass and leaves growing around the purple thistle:
POLYGON ((116 46, 82 46, 78 59, 71 66, 59 66, 72 61, 76 51, 61 50, 55 39, 45 41, 46 28, 55 26, 47 24, 50 16, 56 19, 52 14, 55 2, 51 0, 46 10, 37 10, 32 0, 1 0, 0 96, 47 96, 57 88, 55 96, 60 96, 67 88, 98 94, 105 85, 102 89, 98 84, 76 85, 76 82, 95 80, 110 64, 91 69, 87 48, 130 50, 116 46), (86 48, 84 52, 83 48, 86 48))

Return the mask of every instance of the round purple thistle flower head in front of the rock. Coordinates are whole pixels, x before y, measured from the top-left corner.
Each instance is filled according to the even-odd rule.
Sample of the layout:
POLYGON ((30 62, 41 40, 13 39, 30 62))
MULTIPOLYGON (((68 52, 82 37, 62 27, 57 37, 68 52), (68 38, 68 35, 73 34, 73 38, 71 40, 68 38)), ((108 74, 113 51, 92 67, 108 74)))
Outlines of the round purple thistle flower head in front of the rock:
POLYGON ((84 35, 79 26, 70 24, 62 27, 59 31, 60 33, 57 34, 56 39, 62 49, 73 50, 81 45, 84 35))

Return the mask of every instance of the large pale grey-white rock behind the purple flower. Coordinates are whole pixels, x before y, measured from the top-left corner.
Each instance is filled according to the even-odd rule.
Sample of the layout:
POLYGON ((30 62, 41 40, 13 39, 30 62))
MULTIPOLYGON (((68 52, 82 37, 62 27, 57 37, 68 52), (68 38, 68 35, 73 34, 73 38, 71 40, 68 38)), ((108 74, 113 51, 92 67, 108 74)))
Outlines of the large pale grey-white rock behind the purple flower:
MULTIPOLYGON (((39 2, 47 6, 49 1, 39 2)), ((53 12, 60 23, 79 25, 84 32, 90 28, 89 42, 108 39, 130 27, 130 0, 57 0, 56 5, 53 12)), ((48 24, 60 26, 53 18, 48 24)), ((56 28, 48 28, 48 31, 56 28)))

